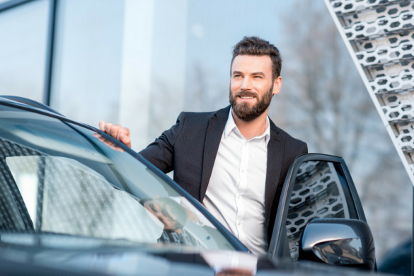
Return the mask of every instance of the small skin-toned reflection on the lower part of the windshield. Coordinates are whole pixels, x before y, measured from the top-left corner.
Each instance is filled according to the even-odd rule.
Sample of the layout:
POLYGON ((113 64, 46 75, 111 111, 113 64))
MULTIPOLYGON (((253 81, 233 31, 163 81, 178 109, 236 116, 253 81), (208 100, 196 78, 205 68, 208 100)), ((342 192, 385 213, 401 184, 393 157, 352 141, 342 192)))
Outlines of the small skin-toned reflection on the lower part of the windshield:
POLYGON ((164 224, 164 230, 175 230, 177 228, 178 218, 171 212, 171 206, 166 204, 166 202, 162 200, 149 200, 144 202, 144 208, 164 224))

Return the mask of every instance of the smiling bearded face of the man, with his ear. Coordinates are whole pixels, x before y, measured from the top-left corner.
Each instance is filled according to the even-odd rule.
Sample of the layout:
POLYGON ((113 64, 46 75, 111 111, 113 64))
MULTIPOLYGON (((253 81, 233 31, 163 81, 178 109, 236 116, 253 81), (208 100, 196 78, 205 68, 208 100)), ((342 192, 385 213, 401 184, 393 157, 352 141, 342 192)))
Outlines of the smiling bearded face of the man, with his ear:
POLYGON ((229 100, 234 113, 251 122, 268 110, 272 95, 279 93, 282 78, 272 80, 269 56, 238 55, 231 65, 229 100))

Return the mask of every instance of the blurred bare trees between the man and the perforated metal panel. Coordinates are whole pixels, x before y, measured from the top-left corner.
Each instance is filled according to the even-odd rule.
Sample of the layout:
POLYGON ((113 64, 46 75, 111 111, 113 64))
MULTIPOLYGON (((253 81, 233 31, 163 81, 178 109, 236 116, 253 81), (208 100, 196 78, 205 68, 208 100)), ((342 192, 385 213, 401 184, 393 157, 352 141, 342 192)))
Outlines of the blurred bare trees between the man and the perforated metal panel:
POLYGON ((309 152, 343 156, 381 258, 411 234, 412 185, 323 1, 291 7, 269 115, 309 152))

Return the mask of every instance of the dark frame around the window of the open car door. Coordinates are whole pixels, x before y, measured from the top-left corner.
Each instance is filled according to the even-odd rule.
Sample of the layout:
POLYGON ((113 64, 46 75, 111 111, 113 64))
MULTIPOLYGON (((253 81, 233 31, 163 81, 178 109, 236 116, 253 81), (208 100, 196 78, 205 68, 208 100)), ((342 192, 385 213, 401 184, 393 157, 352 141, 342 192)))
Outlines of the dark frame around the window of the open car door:
POLYGON ((352 204, 355 205, 358 219, 367 222, 365 218, 364 209, 360 197, 357 194, 357 189, 350 175, 350 171, 342 157, 332 156, 328 154, 301 154, 293 161, 292 165, 287 171, 287 176, 284 180, 282 194, 280 195, 280 202, 277 208, 277 214, 275 219, 275 225, 272 232, 272 240, 270 241, 268 255, 270 258, 287 258, 289 256, 286 251, 287 232, 286 232, 286 219, 289 210, 289 202, 292 197, 292 190, 294 181, 296 180, 299 166, 307 161, 326 161, 332 163, 338 163, 345 176, 345 181, 350 189, 350 195, 352 197, 352 204))

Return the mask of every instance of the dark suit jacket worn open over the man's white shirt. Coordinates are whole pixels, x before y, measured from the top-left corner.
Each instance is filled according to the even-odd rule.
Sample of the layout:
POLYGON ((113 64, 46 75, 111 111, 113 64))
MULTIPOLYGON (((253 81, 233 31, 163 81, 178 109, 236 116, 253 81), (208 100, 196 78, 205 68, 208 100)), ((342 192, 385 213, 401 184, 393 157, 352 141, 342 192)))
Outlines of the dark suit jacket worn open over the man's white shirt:
MULTIPOLYGON (((230 106, 210 113, 182 112, 176 125, 139 154, 164 173, 174 171, 176 183, 202 202, 229 112, 230 106)), ((269 242, 287 170, 298 155, 307 152, 306 143, 294 139, 270 120, 265 183, 265 222, 269 242)))

